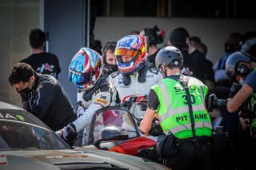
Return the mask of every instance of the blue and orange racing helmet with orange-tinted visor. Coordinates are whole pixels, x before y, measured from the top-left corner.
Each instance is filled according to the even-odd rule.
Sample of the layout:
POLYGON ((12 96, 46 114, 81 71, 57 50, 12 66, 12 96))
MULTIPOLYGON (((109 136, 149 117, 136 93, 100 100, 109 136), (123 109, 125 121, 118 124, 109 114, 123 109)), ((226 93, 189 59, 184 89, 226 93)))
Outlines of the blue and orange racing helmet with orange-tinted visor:
POLYGON ((118 69, 122 73, 135 73, 142 68, 146 61, 146 37, 140 35, 127 35, 118 41, 114 55, 117 56, 118 69), (131 61, 122 61, 122 56, 133 57, 131 61))

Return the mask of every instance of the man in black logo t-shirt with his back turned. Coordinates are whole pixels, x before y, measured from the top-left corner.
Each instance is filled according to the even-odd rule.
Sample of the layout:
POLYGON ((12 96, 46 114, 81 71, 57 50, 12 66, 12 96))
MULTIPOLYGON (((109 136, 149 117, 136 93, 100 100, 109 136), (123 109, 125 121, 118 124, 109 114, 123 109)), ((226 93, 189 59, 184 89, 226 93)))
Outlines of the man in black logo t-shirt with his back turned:
POLYGON ((53 53, 46 53, 46 34, 40 29, 30 31, 30 46, 32 54, 20 62, 25 62, 37 72, 42 74, 50 74, 58 78, 61 72, 58 57, 53 53))

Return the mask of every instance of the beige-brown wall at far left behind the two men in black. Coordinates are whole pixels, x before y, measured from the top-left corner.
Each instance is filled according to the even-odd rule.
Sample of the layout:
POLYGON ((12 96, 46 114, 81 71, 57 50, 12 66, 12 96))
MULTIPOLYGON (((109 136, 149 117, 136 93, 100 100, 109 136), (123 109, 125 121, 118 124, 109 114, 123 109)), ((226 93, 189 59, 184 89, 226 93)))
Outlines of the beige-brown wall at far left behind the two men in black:
POLYGON ((28 35, 40 25, 39 4, 39 0, 0 1, 0 101, 22 106, 7 77, 14 63, 32 52, 28 35))

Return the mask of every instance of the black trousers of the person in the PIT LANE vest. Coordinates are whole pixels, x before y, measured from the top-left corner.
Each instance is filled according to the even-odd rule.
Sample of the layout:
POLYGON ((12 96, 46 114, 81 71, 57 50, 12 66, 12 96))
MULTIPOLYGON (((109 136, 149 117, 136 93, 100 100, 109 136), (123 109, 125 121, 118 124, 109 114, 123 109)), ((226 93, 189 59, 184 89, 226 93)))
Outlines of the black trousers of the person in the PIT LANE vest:
POLYGON ((178 153, 167 160, 166 166, 173 170, 213 169, 211 146, 208 142, 178 144, 178 153))

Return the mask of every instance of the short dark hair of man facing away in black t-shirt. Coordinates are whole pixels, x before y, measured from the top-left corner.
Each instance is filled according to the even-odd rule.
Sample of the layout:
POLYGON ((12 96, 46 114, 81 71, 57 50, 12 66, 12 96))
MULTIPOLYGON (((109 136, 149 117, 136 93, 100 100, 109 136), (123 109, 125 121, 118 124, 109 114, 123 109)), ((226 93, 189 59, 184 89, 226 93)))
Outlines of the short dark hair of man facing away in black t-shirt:
POLYGON ((40 29, 30 31, 30 46, 38 49, 46 42, 46 34, 40 29))

